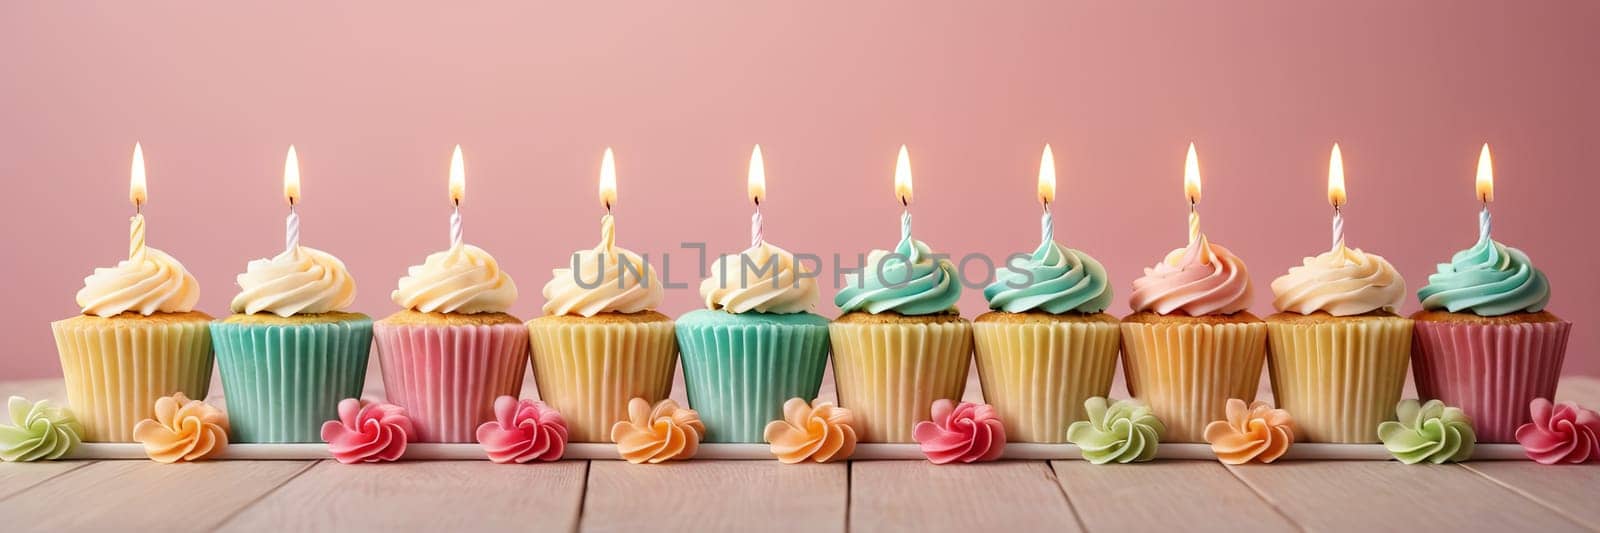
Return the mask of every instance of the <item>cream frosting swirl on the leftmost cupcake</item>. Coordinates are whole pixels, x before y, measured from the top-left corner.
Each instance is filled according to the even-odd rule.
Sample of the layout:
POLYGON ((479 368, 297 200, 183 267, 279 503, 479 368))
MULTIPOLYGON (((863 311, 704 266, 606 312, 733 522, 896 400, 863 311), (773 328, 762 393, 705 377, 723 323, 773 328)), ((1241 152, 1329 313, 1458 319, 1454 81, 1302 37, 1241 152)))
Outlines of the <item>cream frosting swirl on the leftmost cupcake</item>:
POLYGON ((115 317, 123 312, 190 312, 200 301, 200 282, 165 251, 139 246, 114 267, 94 269, 78 290, 83 314, 115 317))

